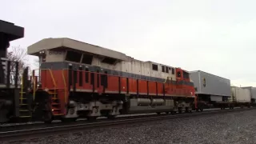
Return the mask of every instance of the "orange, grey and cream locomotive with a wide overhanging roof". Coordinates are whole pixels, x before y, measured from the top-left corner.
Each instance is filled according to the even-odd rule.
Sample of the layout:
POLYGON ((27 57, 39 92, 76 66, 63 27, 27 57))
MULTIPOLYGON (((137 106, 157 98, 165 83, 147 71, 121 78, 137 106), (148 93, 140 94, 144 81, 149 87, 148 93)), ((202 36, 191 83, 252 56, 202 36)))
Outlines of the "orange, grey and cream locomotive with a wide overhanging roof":
POLYGON ((181 68, 70 38, 42 39, 28 47, 28 54, 40 60, 39 77, 32 78, 34 114, 45 122, 181 113, 196 106, 194 84, 181 68))

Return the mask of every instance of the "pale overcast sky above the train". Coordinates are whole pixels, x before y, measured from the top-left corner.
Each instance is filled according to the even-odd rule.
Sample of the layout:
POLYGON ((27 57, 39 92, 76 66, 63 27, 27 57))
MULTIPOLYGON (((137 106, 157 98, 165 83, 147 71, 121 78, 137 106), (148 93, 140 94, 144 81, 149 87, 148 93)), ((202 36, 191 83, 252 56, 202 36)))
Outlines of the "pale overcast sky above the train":
POLYGON ((1 1, 0 18, 25 27, 12 46, 74 38, 256 86, 254 0, 1 1))

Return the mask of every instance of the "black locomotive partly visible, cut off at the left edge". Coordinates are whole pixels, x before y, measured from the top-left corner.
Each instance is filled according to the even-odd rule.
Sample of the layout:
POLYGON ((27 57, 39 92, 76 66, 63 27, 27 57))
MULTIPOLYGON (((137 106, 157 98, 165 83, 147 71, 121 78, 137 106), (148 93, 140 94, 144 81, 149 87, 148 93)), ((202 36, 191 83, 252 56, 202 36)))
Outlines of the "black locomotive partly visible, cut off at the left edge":
MULTIPOLYGON (((20 105, 20 87, 18 86, 18 62, 11 62, 6 58, 7 48, 10 42, 24 37, 24 28, 15 26, 14 23, 0 20, 0 123, 10 121, 10 118, 22 118, 24 114, 30 113, 27 109, 30 104, 20 105), (14 65, 13 65, 14 64, 14 65), (10 66, 14 67, 10 67, 10 66), (14 74, 14 85, 10 81, 10 74, 14 74), (22 111, 23 110, 23 111, 22 111), (25 113, 24 110, 26 111, 25 113)), ((27 81, 28 69, 23 74, 24 91, 27 81)), ((27 101, 26 101, 27 102, 27 101)), ((26 115, 27 116, 27 115, 26 115)), ((15 122, 15 120, 14 120, 15 122)))

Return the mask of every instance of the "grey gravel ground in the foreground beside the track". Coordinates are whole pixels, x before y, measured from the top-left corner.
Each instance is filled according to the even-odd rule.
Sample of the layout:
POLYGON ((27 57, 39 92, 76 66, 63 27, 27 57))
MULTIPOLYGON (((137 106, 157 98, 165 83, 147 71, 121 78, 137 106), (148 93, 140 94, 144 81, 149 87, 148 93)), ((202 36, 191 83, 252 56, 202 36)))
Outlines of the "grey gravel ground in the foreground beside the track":
POLYGON ((18 143, 253 144, 256 143, 256 110, 96 128, 18 143))

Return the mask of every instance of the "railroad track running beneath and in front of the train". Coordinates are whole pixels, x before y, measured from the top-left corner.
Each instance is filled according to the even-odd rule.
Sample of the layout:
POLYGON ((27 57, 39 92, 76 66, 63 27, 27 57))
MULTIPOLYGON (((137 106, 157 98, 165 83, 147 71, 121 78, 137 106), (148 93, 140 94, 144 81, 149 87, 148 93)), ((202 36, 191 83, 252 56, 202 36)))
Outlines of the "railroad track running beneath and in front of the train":
MULTIPOLYGON (((97 127, 107 127, 107 126, 118 126, 122 124, 138 123, 138 122, 149 122, 157 121, 163 119, 171 118, 189 118, 200 115, 209 115, 209 114, 222 114, 230 112, 238 112, 242 110, 255 110, 256 107, 245 108, 245 109, 234 109, 234 110, 208 110, 201 113, 190 113, 190 114, 160 114, 160 115, 150 115, 139 118, 117 118, 114 120, 102 120, 98 122, 74 122, 74 123, 61 123, 57 125, 47 125, 45 127, 26 127, 24 126, 23 130, 9 130, 0 132, 0 142, 8 141, 15 142, 23 139, 33 139, 33 138, 42 138, 47 136, 52 136, 54 134, 67 134, 74 133, 82 130, 97 128, 97 127), (11 140, 10 140, 11 139, 11 140)), ((138 117, 138 116, 137 116, 138 117)))

